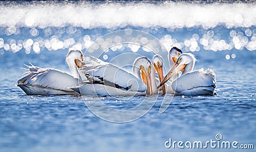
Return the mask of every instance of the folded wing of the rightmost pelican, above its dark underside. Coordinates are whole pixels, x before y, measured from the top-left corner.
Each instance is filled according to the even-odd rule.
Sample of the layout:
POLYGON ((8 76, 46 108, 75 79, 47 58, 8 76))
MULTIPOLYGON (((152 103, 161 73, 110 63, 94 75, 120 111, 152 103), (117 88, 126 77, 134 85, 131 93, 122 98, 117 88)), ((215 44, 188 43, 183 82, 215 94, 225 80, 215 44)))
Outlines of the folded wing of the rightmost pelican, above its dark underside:
POLYGON ((214 91, 216 87, 216 75, 211 69, 197 70, 187 73, 179 79, 173 81, 172 88, 177 92, 194 90, 195 88, 205 88, 214 91))

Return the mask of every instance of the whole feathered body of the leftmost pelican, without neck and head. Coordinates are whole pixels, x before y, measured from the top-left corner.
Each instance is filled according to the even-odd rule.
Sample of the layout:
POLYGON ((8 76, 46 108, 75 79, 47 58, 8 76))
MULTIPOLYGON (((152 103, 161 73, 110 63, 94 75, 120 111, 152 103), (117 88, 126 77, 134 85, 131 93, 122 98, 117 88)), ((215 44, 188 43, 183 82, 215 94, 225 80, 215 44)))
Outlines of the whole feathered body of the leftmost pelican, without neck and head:
POLYGON ((68 88, 78 83, 72 75, 53 68, 28 67, 29 71, 20 76, 17 85, 27 95, 77 94, 68 88))

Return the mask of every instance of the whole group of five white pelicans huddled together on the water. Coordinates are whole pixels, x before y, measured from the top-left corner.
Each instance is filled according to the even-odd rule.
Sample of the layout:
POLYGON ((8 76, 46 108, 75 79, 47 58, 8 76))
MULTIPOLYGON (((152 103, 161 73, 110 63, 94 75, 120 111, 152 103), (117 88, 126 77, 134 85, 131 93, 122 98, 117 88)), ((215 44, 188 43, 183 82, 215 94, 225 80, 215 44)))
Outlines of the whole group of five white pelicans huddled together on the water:
POLYGON ((182 53, 177 47, 168 52, 170 71, 163 74, 163 57, 156 54, 152 61, 138 57, 129 73, 96 57, 86 57, 79 50, 70 50, 66 61, 72 75, 54 68, 28 66, 18 86, 27 95, 215 95, 216 76, 210 69, 195 70, 195 56, 182 53), (156 75, 157 73, 157 75, 156 75))

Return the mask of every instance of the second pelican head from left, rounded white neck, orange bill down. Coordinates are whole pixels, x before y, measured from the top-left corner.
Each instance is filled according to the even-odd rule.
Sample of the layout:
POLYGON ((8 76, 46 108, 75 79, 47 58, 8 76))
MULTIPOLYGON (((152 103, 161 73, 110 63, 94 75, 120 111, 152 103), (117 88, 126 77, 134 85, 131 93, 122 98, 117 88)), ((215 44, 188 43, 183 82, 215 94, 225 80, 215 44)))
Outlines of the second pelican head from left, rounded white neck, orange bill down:
POLYGON ((152 95, 151 62, 147 57, 138 57, 133 63, 133 73, 147 85, 147 95, 152 95))

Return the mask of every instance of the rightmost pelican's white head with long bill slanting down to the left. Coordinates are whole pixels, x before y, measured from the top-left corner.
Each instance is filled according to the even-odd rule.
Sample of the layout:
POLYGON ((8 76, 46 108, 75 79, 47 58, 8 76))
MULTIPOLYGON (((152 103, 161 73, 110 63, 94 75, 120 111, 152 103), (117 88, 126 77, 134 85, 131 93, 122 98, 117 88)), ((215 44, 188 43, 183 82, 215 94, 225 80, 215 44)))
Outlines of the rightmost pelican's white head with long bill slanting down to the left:
MULTIPOLYGON (((164 79, 160 82, 157 88, 161 87, 166 81, 168 81, 173 75, 182 71, 182 75, 191 72, 195 66, 195 56, 191 53, 184 53, 181 54, 177 61, 175 62, 174 66, 172 66, 170 72, 164 77, 164 79)), ((182 76, 181 75, 181 76, 182 76)))

